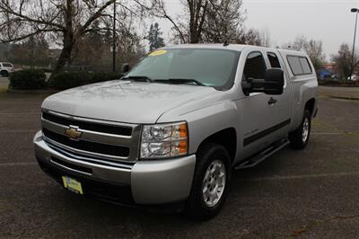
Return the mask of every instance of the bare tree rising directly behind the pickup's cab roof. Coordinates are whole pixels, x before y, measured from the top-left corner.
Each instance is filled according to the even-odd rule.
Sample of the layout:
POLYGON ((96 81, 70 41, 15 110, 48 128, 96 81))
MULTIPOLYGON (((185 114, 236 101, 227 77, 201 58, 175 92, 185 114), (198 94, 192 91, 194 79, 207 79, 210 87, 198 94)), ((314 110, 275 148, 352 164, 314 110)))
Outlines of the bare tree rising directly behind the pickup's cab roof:
POLYGON ((244 21, 242 0, 183 0, 184 14, 171 16, 163 0, 153 0, 153 15, 169 20, 182 43, 234 39, 244 21))

